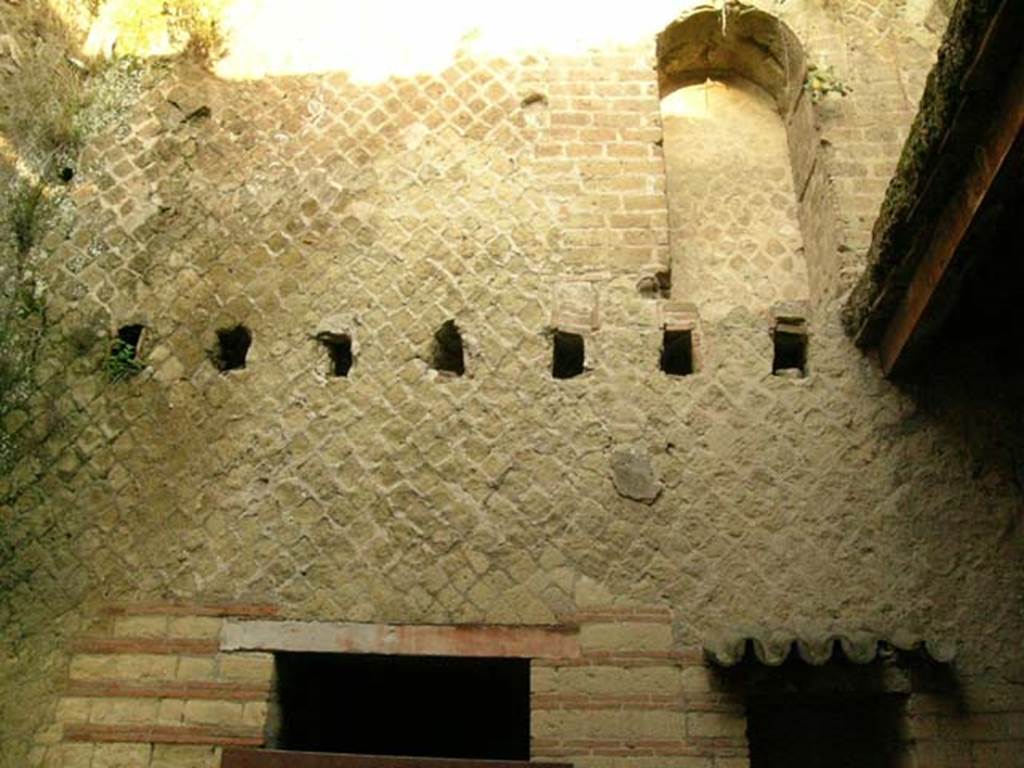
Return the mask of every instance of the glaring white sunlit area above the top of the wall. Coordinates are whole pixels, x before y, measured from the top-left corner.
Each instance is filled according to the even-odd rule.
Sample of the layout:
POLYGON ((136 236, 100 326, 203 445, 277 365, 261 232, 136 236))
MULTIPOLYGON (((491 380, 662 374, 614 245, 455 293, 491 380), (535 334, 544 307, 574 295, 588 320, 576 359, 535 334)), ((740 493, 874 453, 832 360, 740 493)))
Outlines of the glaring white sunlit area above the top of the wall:
MULTIPOLYGON (((53 3, 60 0, 51 0, 53 3)), ((573 55, 652 44, 700 0, 190 0, 211 9, 226 41, 217 75, 233 80, 346 72, 362 84, 436 74, 457 55, 512 58, 573 55)), ((87 53, 167 55, 171 36, 156 0, 106 0, 87 53), (153 5, 151 11, 146 8, 153 5), (145 18, 146 12, 153 16, 145 18), (150 25, 151 32, 138 31, 150 25), (163 29, 161 29, 163 25, 163 29), (131 39, 141 50, 127 50, 131 39)))

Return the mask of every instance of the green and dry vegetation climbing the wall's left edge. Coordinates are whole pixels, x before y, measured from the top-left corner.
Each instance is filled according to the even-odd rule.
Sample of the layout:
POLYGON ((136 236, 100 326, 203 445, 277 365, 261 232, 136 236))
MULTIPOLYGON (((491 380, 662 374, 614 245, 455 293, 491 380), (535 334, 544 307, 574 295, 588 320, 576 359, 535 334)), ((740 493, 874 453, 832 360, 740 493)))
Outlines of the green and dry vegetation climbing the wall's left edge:
MULTIPOLYGON (((56 336, 44 279, 54 254, 45 238, 66 237, 73 225, 77 212, 65 184, 83 170, 84 142, 127 119, 150 71, 124 57, 84 63, 71 28, 54 10, 100 11, 110 2, 22 0, 16 14, 5 16, 17 55, 0 88, 0 507, 33 490, 53 464, 52 440, 71 418, 58 401, 61 377, 41 366, 44 355, 67 364, 87 355, 97 340, 94 331, 90 338, 81 329, 56 336)), ((142 370, 137 351, 115 353, 108 364, 112 378, 142 370)), ((0 572, 0 587, 2 581, 0 572)))

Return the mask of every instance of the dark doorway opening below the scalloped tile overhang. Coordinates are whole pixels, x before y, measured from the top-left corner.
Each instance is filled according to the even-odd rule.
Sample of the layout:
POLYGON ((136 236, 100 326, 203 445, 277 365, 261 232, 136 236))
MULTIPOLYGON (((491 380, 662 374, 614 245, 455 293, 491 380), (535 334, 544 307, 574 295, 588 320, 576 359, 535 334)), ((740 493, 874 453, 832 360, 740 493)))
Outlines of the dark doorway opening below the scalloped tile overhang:
POLYGON ((751 768, 898 768, 905 701, 896 694, 751 696, 751 768))

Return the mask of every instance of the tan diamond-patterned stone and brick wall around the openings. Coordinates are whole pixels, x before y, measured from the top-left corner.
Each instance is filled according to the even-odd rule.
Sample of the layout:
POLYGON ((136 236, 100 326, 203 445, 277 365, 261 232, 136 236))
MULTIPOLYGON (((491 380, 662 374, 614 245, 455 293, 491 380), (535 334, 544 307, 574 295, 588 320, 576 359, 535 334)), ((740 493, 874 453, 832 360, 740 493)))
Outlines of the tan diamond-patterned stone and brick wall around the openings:
POLYGON ((900 390, 840 319, 945 16, 691 5, 373 84, 147 72, 34 251, 66 427, 2 479, 0 765, 262 743, 272 656, 219 639, 246 620, 569 628, 583 657, 534 665, 534 755, 585 768, 749 764, 712 638, 909 634, 955 645, 959 685, 900 689, 910 764, 1020 765, 1002 415, 954 381, 900 390), (734 22, 800 50, 776 80, 659 72, 680 13, 672 35, 712 14, 716 46, 734 22), (811 103, 809 62, 852 93, 811 103), (808 323, 804 378, 772 376, 779 306, 808 323), (431 367, 449 321, 460 377, 431 367), (145 370, 112 384, 131 324, 145 370), (666 328, 693 330, 693 374, 658 370, 666 328), (556 330, 582 376, 552 379, 556 330), (323 333, 350 338, 346 377, 323 333))

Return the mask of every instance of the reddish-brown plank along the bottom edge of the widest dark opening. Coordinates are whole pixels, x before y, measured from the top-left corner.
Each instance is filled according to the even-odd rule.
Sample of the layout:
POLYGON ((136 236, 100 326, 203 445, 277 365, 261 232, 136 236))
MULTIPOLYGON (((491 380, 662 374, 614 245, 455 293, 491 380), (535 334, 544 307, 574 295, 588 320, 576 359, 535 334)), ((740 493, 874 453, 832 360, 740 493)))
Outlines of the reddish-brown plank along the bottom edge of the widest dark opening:
POLYGON ((225 749, 221 768, 572 768, 571 763, 452 760, 225 749))

